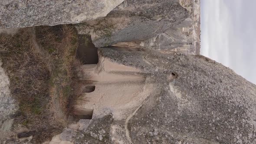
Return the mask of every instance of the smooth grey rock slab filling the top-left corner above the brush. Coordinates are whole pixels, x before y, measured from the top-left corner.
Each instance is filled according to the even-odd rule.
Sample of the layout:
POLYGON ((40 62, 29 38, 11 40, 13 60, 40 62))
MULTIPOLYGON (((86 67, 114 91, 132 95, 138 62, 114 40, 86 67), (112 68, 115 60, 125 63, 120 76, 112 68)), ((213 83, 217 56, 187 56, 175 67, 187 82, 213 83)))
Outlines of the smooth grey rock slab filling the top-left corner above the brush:
POLYGON ((123 0, 0 0, 0 28, 81 23, 106 16, 123 0))

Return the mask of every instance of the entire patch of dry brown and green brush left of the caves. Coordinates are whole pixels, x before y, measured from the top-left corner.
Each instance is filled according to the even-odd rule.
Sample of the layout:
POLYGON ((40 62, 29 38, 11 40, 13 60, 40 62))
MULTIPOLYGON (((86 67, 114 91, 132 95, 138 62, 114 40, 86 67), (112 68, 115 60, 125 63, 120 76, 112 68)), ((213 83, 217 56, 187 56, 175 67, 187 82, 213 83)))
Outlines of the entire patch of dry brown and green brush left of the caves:
MULTIPOLYGON (((37 26, 14 35, 0 35, 0 58, 10 78, 12 95, 19 101, 16 124, 25 125, 33 143, 50 139, 62 131, 76 95, 74 68, 77 33, 73 26, 37 26), (40 55, 33 40, 46 55, 40 55), (62 121, 60 121, 62 120, 62 121)), ((23 135, 23 134, 20 134, 23 135)), ((29 135, 26 135, 29 136, 29 135)))

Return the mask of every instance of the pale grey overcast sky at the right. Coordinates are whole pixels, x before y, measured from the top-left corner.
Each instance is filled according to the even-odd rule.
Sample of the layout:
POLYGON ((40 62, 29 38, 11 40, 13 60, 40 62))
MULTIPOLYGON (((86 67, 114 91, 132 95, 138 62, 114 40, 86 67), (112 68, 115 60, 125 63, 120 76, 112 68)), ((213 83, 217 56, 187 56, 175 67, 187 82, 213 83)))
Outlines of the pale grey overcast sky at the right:
POLYGON ((256 0, 201 0, 200 54, 256 84, 256 0))

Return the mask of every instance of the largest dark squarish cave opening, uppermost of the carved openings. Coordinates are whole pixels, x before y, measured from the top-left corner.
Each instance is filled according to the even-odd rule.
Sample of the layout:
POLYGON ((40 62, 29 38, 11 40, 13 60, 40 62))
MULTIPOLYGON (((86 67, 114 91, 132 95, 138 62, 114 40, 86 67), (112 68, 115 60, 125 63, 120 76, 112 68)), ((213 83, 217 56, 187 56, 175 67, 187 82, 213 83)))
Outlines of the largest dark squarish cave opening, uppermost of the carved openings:
POLYGON ((92 43, 91 35, 78 35, 78 48, 76 51, 76 58, 82 64, 97 64, 98 63, 98 48, 92 43))

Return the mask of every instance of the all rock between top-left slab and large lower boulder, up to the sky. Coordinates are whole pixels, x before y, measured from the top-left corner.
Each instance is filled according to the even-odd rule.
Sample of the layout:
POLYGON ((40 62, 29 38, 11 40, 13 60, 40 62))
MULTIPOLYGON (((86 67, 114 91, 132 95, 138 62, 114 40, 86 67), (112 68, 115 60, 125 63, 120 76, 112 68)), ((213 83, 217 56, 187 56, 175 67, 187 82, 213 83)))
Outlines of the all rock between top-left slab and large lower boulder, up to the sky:
POLYGON ((199 54, 200 1, 125 0, 104 18, 76 25, 96 47, 136 42, 152 49, 199 54))

